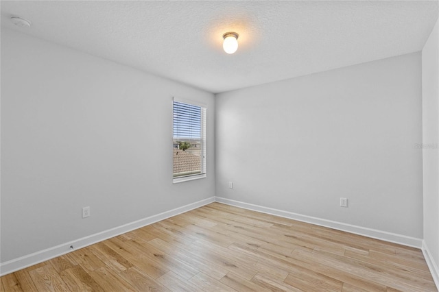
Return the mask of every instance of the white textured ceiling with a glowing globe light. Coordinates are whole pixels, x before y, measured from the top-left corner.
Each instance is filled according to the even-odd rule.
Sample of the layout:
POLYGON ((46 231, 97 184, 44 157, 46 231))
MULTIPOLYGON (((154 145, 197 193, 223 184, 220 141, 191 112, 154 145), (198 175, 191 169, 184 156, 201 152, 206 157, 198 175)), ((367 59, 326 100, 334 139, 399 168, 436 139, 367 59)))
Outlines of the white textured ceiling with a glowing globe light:
POLYGON ((211 93, 420 51, 437 18, 437 0, 1 1, 1 27, 211 93))

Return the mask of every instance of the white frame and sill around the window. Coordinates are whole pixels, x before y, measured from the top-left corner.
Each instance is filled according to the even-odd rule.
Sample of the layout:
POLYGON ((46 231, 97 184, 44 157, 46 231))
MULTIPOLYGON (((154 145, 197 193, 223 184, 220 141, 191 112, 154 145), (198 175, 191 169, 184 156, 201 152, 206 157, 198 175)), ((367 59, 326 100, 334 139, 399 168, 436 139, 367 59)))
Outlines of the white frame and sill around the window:
POLYGON ((190 99, 181 99, 174 97, 172 100, 172 143, 174 145, 174 102, 189 104, 190 106, 198 106, 201 108, 201 136, 200 136, 200 147, 201 147, 201 172, 200 174, 192 174, 192 175, 183 175, 174 178, 174 147, 172 152, 172 182, 174 184, 180 182, 188 182, 191 180, 199 180, 202 178, 206 178, 207 176, 207 167, 206 167, 206 125, 207 125, 207 106, 206 104, 200 103, 199 101, 193 101, 190 99))

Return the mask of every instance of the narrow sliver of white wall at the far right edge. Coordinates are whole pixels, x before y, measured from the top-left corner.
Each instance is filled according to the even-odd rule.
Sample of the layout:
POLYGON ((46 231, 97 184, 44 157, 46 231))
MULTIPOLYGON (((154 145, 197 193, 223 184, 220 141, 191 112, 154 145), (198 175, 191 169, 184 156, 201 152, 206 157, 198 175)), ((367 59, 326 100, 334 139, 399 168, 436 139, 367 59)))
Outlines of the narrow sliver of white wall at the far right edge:
MULTIPOLYGON (((424 242, 439 286, 439 25, 422 52, 424 242)), ((427 260, 429 260, 427 258, 427 260)), ((432 271, 433 272, 433 271, 432 271)))

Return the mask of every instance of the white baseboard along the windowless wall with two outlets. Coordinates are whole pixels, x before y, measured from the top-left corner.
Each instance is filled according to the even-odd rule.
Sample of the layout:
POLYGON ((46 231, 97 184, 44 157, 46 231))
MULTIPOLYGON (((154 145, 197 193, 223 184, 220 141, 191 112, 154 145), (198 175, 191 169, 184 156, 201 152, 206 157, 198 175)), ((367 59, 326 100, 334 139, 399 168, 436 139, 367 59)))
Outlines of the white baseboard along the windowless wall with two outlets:
POLYGON ((236 206, 239 208, 254 210, 257 212, 263 212, 263 213, 267 213, 270 215, 276 215, 279 217, 285 217, 288 219, 294 219, 297 221, 312 223, 312 224, 316 224, 318 226, 329 227, 329 228, 333 228, 336 230, 341 230, 341 231, 346 231, 346 232, 350 232, 353 234, 368 236, 368 237, 371 237, 373 239, 380 239, 383 241, 389 241, 391 243, 398 243, 398 244, 407 245, 410 247, 421 248, 422 243, 423 243, 422 239, 416 239, 416 238, 410 237, 410 236, 395 234, 395 233, 391 233, 391 232, 385 232, 385 231, 381 231, 381 230, 375 230, 375 229, 371 229, 371 228, 364 228, 361 226, 355 226, 355 225, 341 223, 341 222, 337 222, 337 221, 331 221, 331 220, 327 220, 327 219, 311 217, 311 216, 307 216, 307 215, 300 215, 300 214, 297 214, 294 212, 288 212, 288 211, 284 211, 284 210, 278 210, 278 209, 274 209, 274 208, 268 208, 268 207, 263 207, 263 206, 259 206, 259 205, 248 204, 248 203, 244 203, 244 202, 235 201, 233 199, 226 199, 224 197, 215 197, 215 201, 219 202, 219 203, 227 204, 230 206, 236 206))

